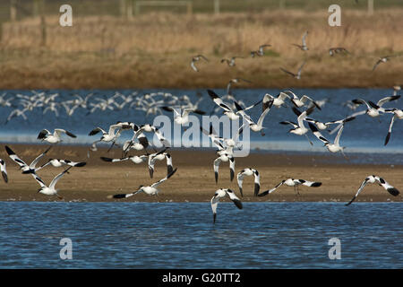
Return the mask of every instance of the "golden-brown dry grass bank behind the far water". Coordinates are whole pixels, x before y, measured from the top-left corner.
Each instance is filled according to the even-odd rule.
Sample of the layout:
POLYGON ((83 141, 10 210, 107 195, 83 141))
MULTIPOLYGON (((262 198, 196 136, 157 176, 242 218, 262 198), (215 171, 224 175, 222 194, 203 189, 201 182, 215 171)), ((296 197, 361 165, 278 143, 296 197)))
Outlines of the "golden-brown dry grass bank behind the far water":
MULTIPOLYGON (((223 13, 219 16, 148 13, 133 21, 115 17, 76 17, 73 27, 47 18, 47 45, 40 46, 39 19, 4 24, 0 50, 0 88, 224 88, 232 77, 253 80, 247 87, 390 86, 401 82, 403 57, 394 57, 370 73, 378 57, 403 53, 403 10, 373 16, 342 13, 342 26, 330 27, 329 13, 285 11, 223 13), (309 30, 309 51, 299 43, 309 30), (265 57, 249 52, 263 43, 265 57), (352 56, 330 57, 330 47, 352 56), (190 67, 193 55, 210 59, 190 67), (243 56, 235 67, 222 57, 243 56), (307 60, 297 81, 291 71, 307 60)), ((246 86, 245 86, 246 87, 246 86)))

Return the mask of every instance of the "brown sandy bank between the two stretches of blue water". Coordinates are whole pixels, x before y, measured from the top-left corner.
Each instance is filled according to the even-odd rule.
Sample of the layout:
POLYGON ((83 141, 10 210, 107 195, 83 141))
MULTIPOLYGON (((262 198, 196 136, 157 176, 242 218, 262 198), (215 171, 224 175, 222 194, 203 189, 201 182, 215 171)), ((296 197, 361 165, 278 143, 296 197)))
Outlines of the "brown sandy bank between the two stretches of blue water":
MULTIPOLYGON (((10 144, 22 160, 32 161, 43 152, 46 145, 10 144)), ((165 161, 156 164, 154 178, 150 178, 146 164, 134 165, 133 162, 109 163, 101 161, 100 156, 119 158, 120 150, 107 153, 105 148, 91 152, 87 158, 88 148, 85 146, 57 146, 51 149, 48 158, 68 159, 71 161, 87 161, 82 168, 73 168, 57 183, 59 195, 45 196, 37 193, 39 184, 29 175, 23 175, 18 166, 11 161, 1 144, 0 158, 6 162, 9 182, 0 183, 0 201, 76 201, 76 202, 209 202, 214 192, 220 188, 231 188, 240 196, 236 178, 229 180, 227 162, 220 166, 219 183, 214 182, 213 161, 216 158, 212 151, 171 151, 176 174, 160 185, 159 197, 139 194, 127 199, 109 199, 107 196, 128 193, 140 185, 150 185, 166 176, 165 161)), ((322 187, 300 187, 300 196, 296 196, 293 187, 279 189, 264 197, 253 197, 253 177, 244 179, 244 202, 304 202, 304 201, 339 201, 347 202, 355 194, 364 178, 368 175, 379 175, 392 186, 403 186, 401 177, 403 166, 372 164, 340 164, 327 161, 327 154, 289 155, 287 152, 251 153, 246 158, 236 158, 236 173, 244 168, 254 168, 261 173, 261 192, 275 187, 282 179, 302 178, 310 181, 321 181, 322 187)), ((47 167, 39 170, 39 176, 48 184, 62 168, 47 167)), ((391 196, 378 185, 367 185, 357 197, 356 202, 401 202, 402 196, 391 196)))

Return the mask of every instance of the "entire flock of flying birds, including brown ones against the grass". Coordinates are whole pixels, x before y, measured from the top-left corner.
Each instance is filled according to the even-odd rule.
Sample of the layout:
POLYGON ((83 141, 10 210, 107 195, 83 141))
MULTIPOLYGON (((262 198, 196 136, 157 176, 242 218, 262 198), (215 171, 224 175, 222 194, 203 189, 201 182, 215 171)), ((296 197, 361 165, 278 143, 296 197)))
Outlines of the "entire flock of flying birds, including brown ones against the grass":
MULTIPOLYGON (((292 44, 296 48, 301 49, 302 51, 309 50, 307 46, 307 36, 309 32, 304 32, 302 42, 300 44, 292 44)), ((253 50, 250 52, 250 57, 264 57, 265 49, 270 48, 270 44, 263 44, 257 50, 253 50)), ((330 57, 333 57, 336 54, 351 54, 347 51, 346 48, 338 47, 338 48, 330 48, 329 49, 330 57)), ((386 63, 390 61, 390 59, 395 56, 385 56, 380 57, 376 63, 373 65, 373 71, 377 68, 378 65, 382 63, 386 63)), ((232 67, 236 65, 237 58, 244 57, 229 57, 222 58, 221 63, 227 64, 232 67)), ((191 67, 193 71, 199 72, 199 67, 196 64, 199 61, 209 62, 207 57, 203 55, 197 55, 192 58, 191 67)), ((280 67, 280 70, 285 74, 288 74, 297 80, 301 78, 302 70, 305 65, 305 61, 298 68, 296 73, 290 72, 283 67, 280 67)), ((380 115, 391 115, 390 119, 390 127, 388 133, 385 137, 384 144, 388 144, 390 141, 391 129, 394 122, 397 119, 403 119, 403 110, 397 108, 383 108, 383 105, 386 103, 390 103, 396 100, 399 100, 400 95, 398 94, 400 91, 399 86, 394 87, 393 94, 390 96, 384 97, 378 100, 377 103, 374 103, 371 100, 363 100, 363 99, 354 99, 349 100, 345 103, 347 108, 351 110, 356 110, 358 107, 364 106, 365 109, 362 109, 358 112, 354 112, 348 117, 336 119, 330 122, 322 122, 317 118, 311 117, 311 114, 314 110, 321 110, 321 106, 323 103, 313 100, 311 97, 307 95, 298 96, 293 91, 281 91, 277 96, 272 96, 269 93, 266 93, 262 100, 257 101, 251 106, 245 105, 242 100, 237 100, 236 97, 232 94, 232 86, 236 83, 250 83, 250 81, 235 78, 231 79, 227 83, 227 94, 223 96, 219 96, 215 91, 208 90, 208 95, 210 96, 210 100, 215 104, 215 109, 211 111, 212 113, 222 112, 224 115, 230 118, 230 120, 238 121, 243 120, 243 126, 240 126, 236 135, 233 135, 231 138, 225 138, 219 136, 214 130, 213 126, 210 125, 209 130, 205 130, 201 127, 201 132, 205 135, 208 135, 211 143, 217 147, 217 158, 213 161, 213 170, 215 182, 218 184, 219 181, 219 166, 221 162, 229 163, 229 172, 230 172, 230 180, 236 177, 237 184, 239 187, 240 196, 244 196, 243 190, 243 182, 244 177, 253 176, 254 177, 254 188, 253 188, 253 196, 267 196, 276 191, 279 187, 285 185, 287 187, 294 187, 296 191, 296 195, 299 195, 298 187, 320 187, 322 186, 322 182, 319 181, 308 181, 301 178, 285 178, 282 180, 277 186, 270 188, 268 190, 260 193, 261 184, 260 184, 260 173, 258 170, 253 168, 246 168, 239 171, 236 174, 236 158, 234 156, 234 150, 239 148, 240 140, 239 138, 242 136, 244 129, 249 128, 253 133, 260 133, 264 135, 263 130, 264 119, 269 115, 270 109, 275 107, 277 109, 289 109, 291 106, 292 111, 296 114, 296 120, 284 120, 279 122, 281 125, 290 126, 289 129, 290 134, 301 135, 306 137, 310 144, 313 144, 308 137, 308 134, 311 132, 319 141, 321 141, 324 146, 328 149, 329 152, 336 153, 340 152, 347 159, 344 154, 345 147, 340 145, 340 137, 344 130, 345 125, 354 120, 359 116, 368 116, 368 117, 379 117, 380 115), (262 107, 262 112, 260 116, 255 120, 250 115, 250 110, 256 107, 262 107), (330 132, 330 135, 337 132, 336 137, 333 141, 330 141, 326 138, 322 133, 324 131, 329 130, 330 126, 335 126, 330 132)), ((146 93, 143 95, 138 94, 136 91, 128 95, 124 95, 118 91, 115 92, 114 95, 107 97, 103 94, 97 95, 96 93, 90 93, 85 97, 74 94, 70 97, 69 100, 59 100, 59 93, 47 94, 45 91, 32 91, 31 95, 25 95, 18 92, 4 92, 3 95, 0 95, 0 108, 8 108, 13 109, 11 113, 8 115, 4 124, 7 124, 15 117, 21 117, 24 120, 28 119, 28 113, 33 110, 40 110, 43 115, 47 112, 54 113, 55 117, 59 117, 60 110, 64 109, 65 115, 68 117, 72 117, 73 114, 77 110, 81 110, 85 112, 85 115, 90 115, 95 112, 107 111, 107 110, 118 110, 121 111, 123 109, 136 109, 141 110, 145 113, 145 116, 148 117, 150 115, 162 115, 164 111, 172 112, 174 122, 176 125, 185 125, 189 123, 189 115, 190 113, 204 115, 206 112, 199 109, 199 104, 201 103, 201 94, 199 94, 199 100, 193 102, 186 95, 178 97, 172 93, 167 92, 153 92, 146 93)), ((347 124, 348 125, 348 124, 347 124)), ((150 196, 158 196, 159 194, 159 185, 165 182, 167 179, 171 178, 176 173, 176 168, 174 169, 172 156, 170 155, 168 149, 171 147, 167 138, 162 135, 159 131, 159 127, 152 126, 150 124, 145 125, 136 125, 132 122, 116 122, 108 127, 108 129, 104 129, 100 126, 96 126, 93 128, 89 135, 99 135, 98 140, 94 141, 89 148, 88 156, 90 157, 90 152, 96 152, 98 150, 98 143, 110 143, 110 148, 107 150, 109 152, 114 146, 118 146, 122 149, 122 157, 118 159, 113 159, 109 157, 100 157, 102 161, 107 162, 120 162, 120 161, 132 161, 134 164, 147 164, 150 178, 153 178, 155 163, 157 161, 166 161, 167 162, 167 176, 165 178, 161 178, 150 186, 140 186, 136 190, 128 194, 117 194, 113 196, 108 196, 110 198, 127 198, 130 196, 134 196, 139 193, 145 193, 150 196), (125 131, 132 131, 133 136, 130 140, 126 140, 123 144, 117 143, 118 138, 125 131), (162 144, 162 149, 157 150, 155 146, 152 146, 148 140, 147 134, 157 135, 159 142, 162 144), (150 149, 152 149, 150 151, 150 149), (129 154, 131 151, 141 152, 140 155, 129 154)), ((43 129, 39 132, 37 137, 38 140, 42 142, 47 142, 51 144, 46 151, 39 154, 39 156, 30 164, 26 163, 19 157, 13 150, 5 145, 5 151, 9 155, 9 157, 19 165, 20 170, 23 174, 30 174, 32 178, 36 180, 39 184, 38 192, 47 196, 57 196, 58 198, 63 198, 58 195, 58 190, 56 189, 56 183, 64 177, 66 173, 69 173, 69 170, 72 168, 80 168, 86 165, 85 161, 76 162, 69 161, 67 159, 48 159, 48 161, 41 166, 37 167, 39 161, 41 161, 46 155, 50 148, 62 141, 62 135, 66 135, 72 138, 75 138, 72 132, 67 131, 62 128, 56 128, 53 133, 48 131, 47 129, 43 129), (61 173, 59 173, 53 180, 47 185, 40 177, 39 170, 44 169, 47 166, 53 166, 56 168, 66 167, 61 173)), ((4 182, 8 182, 8 175, 5 167, 5 161, 0 159, 0 168, 1 173, 4 178, 4 182)), ((356 197, 362 192, 364 186, 368 183, 378 183, 382 186, 386 191, 390 193, 392 196, 398 196, 399 190, 395 187, 392 187, 385 179, 371 175, 364 179, 361 186, 358 188, 356 195, 351 199, 348 204, 352 204, 356 197)), ((214 196, 210 199, 211 209, 213 212, 213 222, 216 222, 217 216, 217 206, 219 204, 219 200, 228 197, 231 201, 234 202, 237 208, 242 209, 243 205, 238 196, 236 196, 235 191, 229 188, 219 188, 214 196)))

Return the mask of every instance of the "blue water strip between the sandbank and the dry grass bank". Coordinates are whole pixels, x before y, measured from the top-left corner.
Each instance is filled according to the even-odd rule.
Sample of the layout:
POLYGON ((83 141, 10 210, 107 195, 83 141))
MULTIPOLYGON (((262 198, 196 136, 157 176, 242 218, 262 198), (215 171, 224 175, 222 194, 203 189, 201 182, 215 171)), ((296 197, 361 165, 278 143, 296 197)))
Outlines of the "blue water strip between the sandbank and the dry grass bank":
MULTIPOLYGON (((284 89, 287 90, 287 89, 284 89)), ((242 100, 246 105, 253 104, 257 100, 261 100, 262 96, 269 92, 272 95, 277 95, 278 89, 257 89, 257 90, 241 90, 235 89, 234 94, 237 100, 242 100)), ((201 101, 199 109, 206 111, 210 114, 211 110, 217 107, 205 89, 201 90, 147 90, 137 91, 138 97, 150 92, 170 92, 178 97, 187 95, 195 102, 201 96, 204 100, 201 101)), ((224 90, 216 90, 220 95, 225 94, 224 90)), ((347 117, 348 115, 365 109, 364 106, 359 107, 355 111, 343 106, 343 103, 347 100, 353 100, 361 98, 364 100, 373 100, 377 102, 385 96, 389 96, 392 93, 391 89, 292 89, 297 95, 309 95, 314 100, 328 99, 328 102, 323 106, 322 111, 316 110, 311 117, 321 121, 329 121, 347 117)), ((31 95, 32 91, 0 91, 0 94, 7 93, 7 97, 13 97, 17 93, 31 95)), ((38 91, 37 91, 38 92, 38 91)), ((64 90, 50 90, 45 91, 47 95, 52 93, 59 93, 60 96, 56 98, 56 102, 64 100, 71 100, 73 94, 77 93, 81 96, 85 96, 90 92, 95 95, 90 98, 90 102, 97 102, 96 98, 105 99, 111 97, 116 91, 102 91, 102 90, 77 90, 77 91, 64 91, 64 90)), ((119 91, 124 95, 133 93, 133 90, 119 91)), ((119 100, 117 100, 119 101, 119 100)), ((13 103, 18 107, 18 100, 13 100, 13 103)), ((288 104, 291 107, 290 104, 288 104)), ((126 105, 122 110, 106 110, 97 111, 96 113, 88 114, 86 109, 76 109, 73 117, 68 117, 64 108, 59 108, 60 115, 56 117, 54 113, 47 112, 45 115, 41 108, 33 109, 27 112, 28 120, 23 120, 21 117, 13 118, 6 125, 0 125, 0 143, 38 143, 36 139, 39 131, 43 128, 49 130, 62 127, 67 129, 75 135, 79 135, 76 139, 68 137, 64 138, 64 143, 92 143, 95 139, 94 136, 88 136, 90 130, 96 126, 101 126, 105 129, 108 126, 115 124, 116 121, 131 121, 136 124, 153 123, 155 115, 145 116, 145 112, 136 109, 129 109, 129 105, 126 105)), ((402 109, 402 100, 396 100, 390 103, 386 103, 384 108, 399 108, 402 109)), ((4 123, 13 108, 4 108, 0 106, 0 123, 4 123)), ((259 117, 261 112, 260 107, 256 107, 250 110, 251 117, 255 120, 259 117)), ((172 113, 164 111, 164 114, 172 117, 172 113)), ((393 132, 390 138, 390 143, 385 147, 383 142, 388 132, 390 125, 391 115, 382 115, 379 118, 372 118, 366 115, 357 117, 356 120, 348 122, 343 135, 341 136, 340 143, 346 146, 346 153, 389 153, 399 155, 399 161, 393 163, 403 163, 403 133, 402 123, 397 120, 393 126, 393 132)), ((279 121, 296 121, 296 115, 291 109, 276 109, 270 110, 268 117, 264 121, 266 126, 265 136, 259 133, 252 133, 252 148, 265 151, 296 151, 296 152, 328 152, 323 144, 319 142, 311 134, 310 138, 314 145, 311 146, 304 136, 288 134, 290 126, 279 125, 279 121)), ((323 132, 326 137, 332 141, 335 135, 328 135, 323 132)), ((123 135, 121 140, 126 137, 130 138, 131 133, 127 132, 127 135, 123 135)), ((98 139, 98 138, 97 138, 98 139)), ((208 139, 207 139, 208 140, 208 139)), ((393 160, 393 159, 392 159, 393 160)))

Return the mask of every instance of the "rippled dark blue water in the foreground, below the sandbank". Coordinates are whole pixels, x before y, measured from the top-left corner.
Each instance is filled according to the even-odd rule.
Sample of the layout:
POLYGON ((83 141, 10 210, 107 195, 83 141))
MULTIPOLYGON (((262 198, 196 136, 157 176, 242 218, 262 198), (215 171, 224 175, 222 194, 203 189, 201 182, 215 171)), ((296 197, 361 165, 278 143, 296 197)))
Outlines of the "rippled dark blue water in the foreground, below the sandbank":
POLYGON ((402 268, 403 204, 0 203, 1 268, 402 268), (59 257, 72 240, 73 259, 59 257), (341 259, 330 259, 331 238, 341 259))

